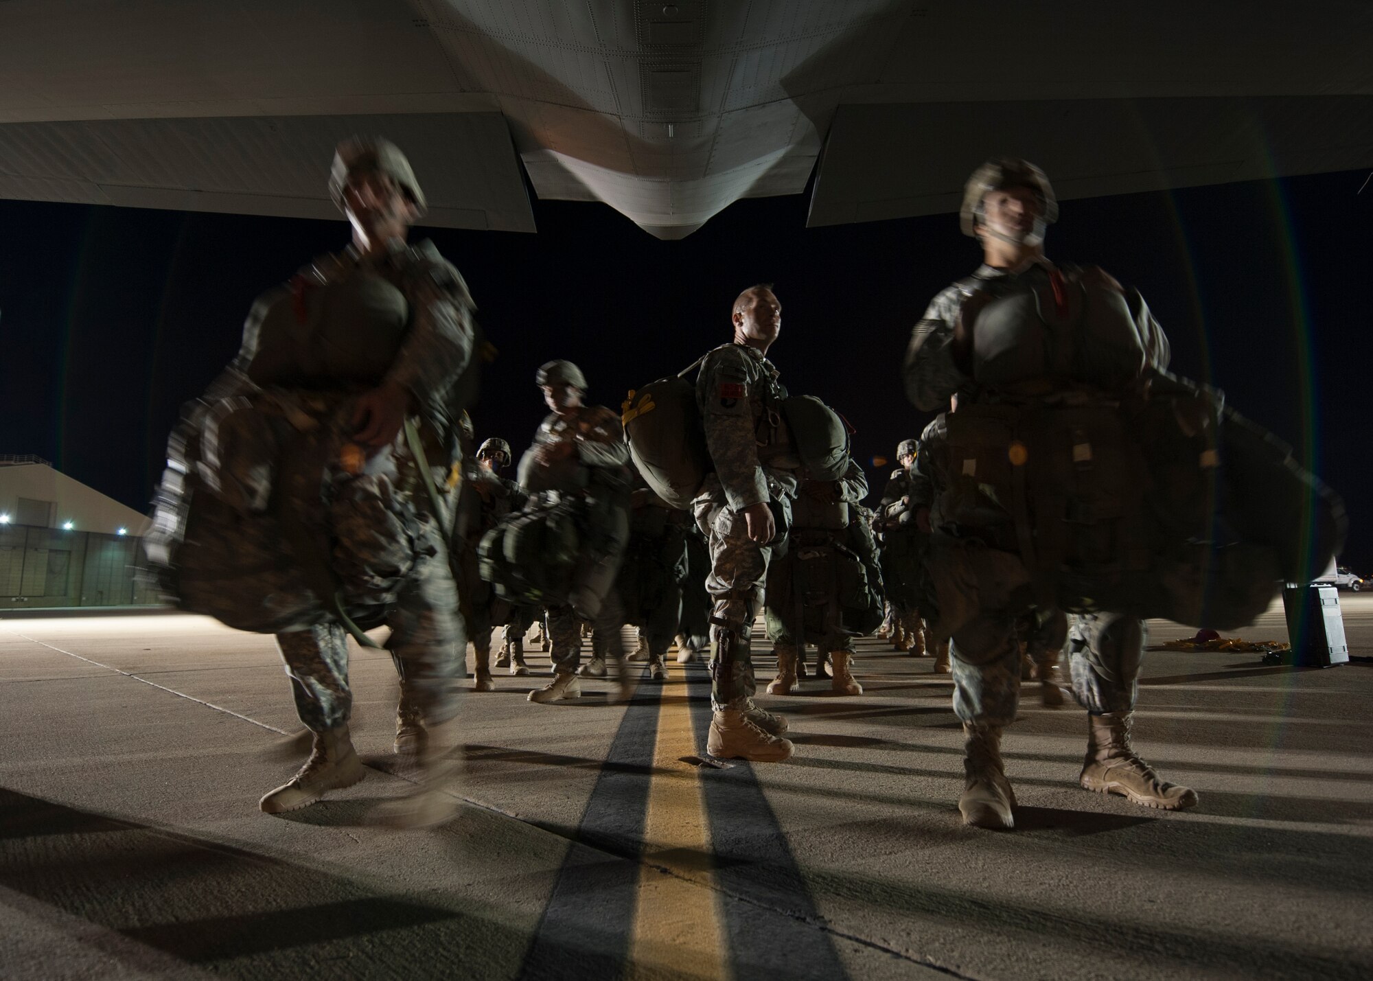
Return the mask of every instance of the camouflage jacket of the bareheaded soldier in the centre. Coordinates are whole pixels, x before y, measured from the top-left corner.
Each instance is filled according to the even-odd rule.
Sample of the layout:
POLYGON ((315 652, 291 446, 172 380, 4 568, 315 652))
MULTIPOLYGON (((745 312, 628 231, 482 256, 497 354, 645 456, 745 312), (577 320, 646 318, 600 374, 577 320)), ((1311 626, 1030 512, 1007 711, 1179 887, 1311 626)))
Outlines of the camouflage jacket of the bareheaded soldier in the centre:
POLYGON ((735 510, 796 492, 799 462, 788 466, 784 452, 769 455, 766 464, 759 458, 761 447, 785 451, 784 426, 774 423, 780 418, 774 405, 787 397, 778 375, 757 348, 726 343, 706 354, 696 376, 706 448, 735 510))

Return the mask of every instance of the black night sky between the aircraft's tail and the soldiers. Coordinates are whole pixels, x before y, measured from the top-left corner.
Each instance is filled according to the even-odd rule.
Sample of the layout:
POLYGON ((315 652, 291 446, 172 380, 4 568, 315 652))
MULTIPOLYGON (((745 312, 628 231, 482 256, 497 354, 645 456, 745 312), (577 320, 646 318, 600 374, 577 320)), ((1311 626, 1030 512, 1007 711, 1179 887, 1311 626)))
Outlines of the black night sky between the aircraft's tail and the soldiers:
MULTIPOLYGON (((1048 238, 1050 258, 1138 287, 1173 342, 1173 370, 1222 387, 1344 495, 1343 561, 1363 573, 1366 177, 1068 201, 1048 238)), ((682 242, 571 202, 534 201, 537 235, 416 229, 461 269, 500 350, 472 414, 478 438, 523 451, 544 415, 534 371, 555 357, 582 367, 590 401, 618 409, 627 389, 726 342, 735 295, 773 282, 783 331, 769 356, 783 382, 843 412, 865 463, 894 458, 928 420, 898 378, 910 326, 979 250, 954 216, 806 228, 807 202, 741 201, 682 242)), ((44 456, 147 510, 178 407, 238 350, 253 298, 346 242, 342 220, 0 202, 0 453, 44 456)), ((875 492, 891 466, 868 469, 875 492)))

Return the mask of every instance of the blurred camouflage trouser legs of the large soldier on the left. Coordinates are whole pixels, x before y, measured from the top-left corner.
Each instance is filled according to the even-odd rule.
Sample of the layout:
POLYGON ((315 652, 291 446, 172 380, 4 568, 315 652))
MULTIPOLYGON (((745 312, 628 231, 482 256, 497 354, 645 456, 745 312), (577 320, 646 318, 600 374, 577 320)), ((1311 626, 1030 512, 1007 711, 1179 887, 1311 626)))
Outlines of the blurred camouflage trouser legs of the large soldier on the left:
MULTIPOLYGON (((400 676, 401 708, 437 724, 457 713, 457 679, 467 643, 448 555, 437 533, 431 530, 428 539, 430 548, 416 556, 384 622, 391 628, 386 647, 400 676)), ((277 633, 276 643, 291 679, 295 712, 305 727, 323 732, 346 724, 353 692, 347 684, 347 632, 342 624, 331 621, 277 633)))

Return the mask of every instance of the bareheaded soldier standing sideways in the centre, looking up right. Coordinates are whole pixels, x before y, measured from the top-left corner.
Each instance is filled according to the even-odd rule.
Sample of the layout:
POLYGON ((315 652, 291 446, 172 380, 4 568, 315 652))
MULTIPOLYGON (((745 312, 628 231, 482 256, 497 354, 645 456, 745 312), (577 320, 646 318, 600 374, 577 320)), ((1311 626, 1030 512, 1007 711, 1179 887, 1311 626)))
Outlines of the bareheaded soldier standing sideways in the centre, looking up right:
POLYGON ((706 749, 711 756, 785 760, 787 721, 754 703, 750 633, 762 605, 768 561, 784 540, 800 460, 777 404, 787 389, 768 349, 781 331, 781 304, 770 286, 752 286, 735 300, 735 338, 702 360, 696 404, 714 473, 692 501, 696 523, 710 539, 706 589, 710 618, 711 709, 706 749))

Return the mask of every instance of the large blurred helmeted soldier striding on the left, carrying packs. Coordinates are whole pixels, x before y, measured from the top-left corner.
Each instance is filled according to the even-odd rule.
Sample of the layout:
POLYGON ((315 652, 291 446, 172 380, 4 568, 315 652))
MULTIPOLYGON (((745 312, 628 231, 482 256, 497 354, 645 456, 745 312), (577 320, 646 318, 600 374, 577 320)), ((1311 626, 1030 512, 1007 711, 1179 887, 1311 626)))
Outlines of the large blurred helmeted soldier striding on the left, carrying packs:
POLYGON ((254 304, 239 354, 173 433, 150 552, 185 609, 276 633, 313 747, 262 798, 268 813, 362 779, 346 638, 389 624, 431 724, 417 747, 430 779, 402 818, 435 823, 453 809, 464 644, 446 488, 481 341, 457 271, 432 243, 405 245, 424 195, 394 144, 341 143, 330 194, 351 245, 254 304))

